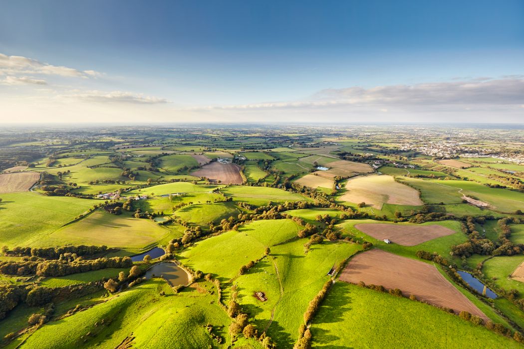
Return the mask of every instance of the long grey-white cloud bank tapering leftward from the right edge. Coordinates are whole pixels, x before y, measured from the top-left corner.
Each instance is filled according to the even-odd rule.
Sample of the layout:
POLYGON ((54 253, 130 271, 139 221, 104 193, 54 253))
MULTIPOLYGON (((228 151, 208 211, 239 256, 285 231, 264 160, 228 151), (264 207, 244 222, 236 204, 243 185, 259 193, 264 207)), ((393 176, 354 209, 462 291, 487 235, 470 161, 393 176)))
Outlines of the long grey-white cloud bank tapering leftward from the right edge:
POLYGON ((464 109, 468 105, 515 106, 524 103, 524 79, 479 78, 468 81, 423 83, 415 85, 377 86, 373 88, 328 88, 309 98, 291 102, 206 106, 189 108, 206 110, 318 109, 378 107, 380 111, 398 108, 436 107, 464 109), (461 106, 461 107, 459 107, 461 106))

